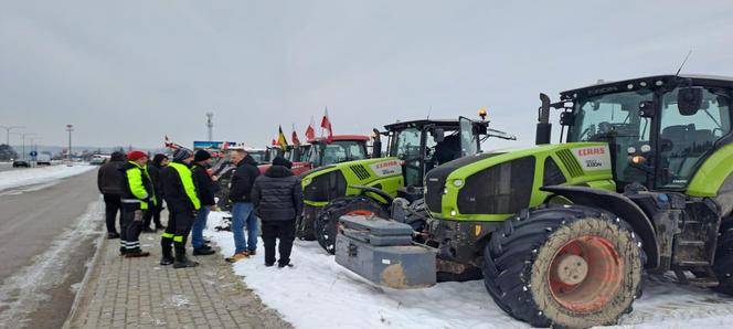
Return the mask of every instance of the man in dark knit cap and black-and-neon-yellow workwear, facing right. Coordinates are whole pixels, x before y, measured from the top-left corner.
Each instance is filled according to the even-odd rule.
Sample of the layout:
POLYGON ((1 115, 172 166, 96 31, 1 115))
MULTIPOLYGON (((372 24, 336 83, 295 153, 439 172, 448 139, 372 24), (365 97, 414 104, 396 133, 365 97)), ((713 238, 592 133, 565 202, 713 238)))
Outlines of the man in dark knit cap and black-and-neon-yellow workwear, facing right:
POLYGON ((193 161, 191 150, 180 148, 173 152, 173 162, 170 162, 161 172, 163 194, 170 215, 168 227, 160 238, 163 256, 160 265, 173 264, 174 268, 194 267, 196 262, 189 261, 185 256, 185 241, 191 233, 194 212, 201 208, 201 202, 193 184, 193 177, 189 166, 193 161), (171 244, 176 246, 176 258, 173 258, 171 244))

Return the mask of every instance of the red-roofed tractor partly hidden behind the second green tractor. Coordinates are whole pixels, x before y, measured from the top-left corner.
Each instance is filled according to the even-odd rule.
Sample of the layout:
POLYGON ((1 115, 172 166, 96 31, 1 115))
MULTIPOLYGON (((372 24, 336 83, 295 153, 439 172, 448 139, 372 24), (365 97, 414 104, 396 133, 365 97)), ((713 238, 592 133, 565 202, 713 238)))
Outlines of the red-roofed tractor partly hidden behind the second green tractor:
MULTIPOLYGON (((366 142, 369 136, 362 135, 334 135, 329 142, 327 138, 315 138, 308 144, 288 146, 279 156, 293 162, 293 173, 302 174, 314 168, 365 159, 366 142)), ((270 151, 272 155, 275 151, 270 151)), ((265 172, 272 164, 259 164, 259 171, 265 172)))

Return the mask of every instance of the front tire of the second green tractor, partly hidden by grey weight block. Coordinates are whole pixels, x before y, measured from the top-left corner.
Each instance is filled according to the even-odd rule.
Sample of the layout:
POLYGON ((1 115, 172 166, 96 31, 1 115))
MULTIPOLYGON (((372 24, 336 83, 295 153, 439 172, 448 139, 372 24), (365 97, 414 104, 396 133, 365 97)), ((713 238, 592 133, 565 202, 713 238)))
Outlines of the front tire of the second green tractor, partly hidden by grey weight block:
POLYGON ((336 234, 342 215, 375 215, 389 219, 390 214, 373 199, 364 195, 334 199, 316 217, 314 229, 316 238, 329 254, 336 253, 336 234))

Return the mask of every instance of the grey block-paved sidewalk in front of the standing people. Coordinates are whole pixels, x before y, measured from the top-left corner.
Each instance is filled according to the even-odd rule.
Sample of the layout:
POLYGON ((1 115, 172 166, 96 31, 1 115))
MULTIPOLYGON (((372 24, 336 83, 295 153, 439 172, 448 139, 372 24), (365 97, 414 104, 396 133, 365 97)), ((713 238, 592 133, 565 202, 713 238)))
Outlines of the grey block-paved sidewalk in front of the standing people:
POLYGON ((232 272, 221 255, 199 256, 194 268, 160 266, 160 234, 141 234, 150 257, 119 256, 103 243, 77 299, 71 328, 291 328, 232 272))

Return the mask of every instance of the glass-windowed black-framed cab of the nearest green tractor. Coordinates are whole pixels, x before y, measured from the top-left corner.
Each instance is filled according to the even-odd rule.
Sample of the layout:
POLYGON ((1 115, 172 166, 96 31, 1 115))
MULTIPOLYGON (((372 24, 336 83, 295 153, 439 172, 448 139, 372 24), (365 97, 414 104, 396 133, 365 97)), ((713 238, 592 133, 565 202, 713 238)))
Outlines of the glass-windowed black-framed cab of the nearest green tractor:
POLYGON ((563 110, 566 142, 608 144, 619 192, 634 182, 682 192, 704 160, 731 140, 732 92, 726 78, 654 76, 564 92, 560 103, 543 106, 563 110))

